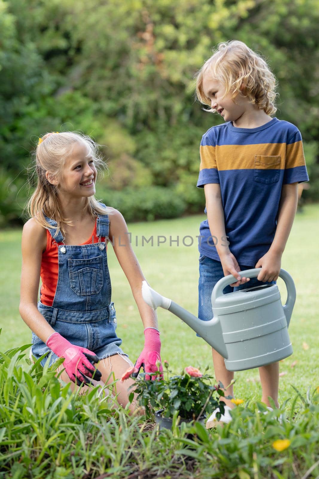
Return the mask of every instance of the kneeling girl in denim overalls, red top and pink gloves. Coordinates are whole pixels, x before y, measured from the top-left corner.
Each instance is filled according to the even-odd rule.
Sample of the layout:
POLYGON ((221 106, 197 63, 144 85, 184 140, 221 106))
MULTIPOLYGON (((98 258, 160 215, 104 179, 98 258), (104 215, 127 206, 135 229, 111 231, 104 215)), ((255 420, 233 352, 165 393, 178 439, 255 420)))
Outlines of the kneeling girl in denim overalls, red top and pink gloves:
MULTIPOLYGON (((35 151, 37 185, 28 202, 31 218, 22 232, 19 311, 33 331, 31 353, 36 358, 50 353, 50 365, 64 357, 61 378, 77 385, 92 384, 88 378, 110 381, 111 371, 120 378, 132 366, 115 332, 109 240, 143 321, 145 343, 135 365, 152 373, 161 362, 156 314, 142 298, 144 276, 125 220, 119 211, 99 203, 94 196, 101 164, 98 145, 86 135, 53 132, 40 138, 35 151), (96 369, 94 363, 98 362, 96 369)), ((117 383, 122 406, 128 403, 131 384, 132 379, 125 385, 117 383)))

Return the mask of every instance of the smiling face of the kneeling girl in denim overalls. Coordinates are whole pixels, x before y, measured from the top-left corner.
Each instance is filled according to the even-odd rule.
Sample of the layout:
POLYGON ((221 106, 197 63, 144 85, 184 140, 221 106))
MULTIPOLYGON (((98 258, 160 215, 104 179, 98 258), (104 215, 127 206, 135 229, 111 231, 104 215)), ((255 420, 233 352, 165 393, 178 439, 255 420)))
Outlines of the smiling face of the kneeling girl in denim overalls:
MULTIPOLYGON (((46 176, 50 181, 48 172, 46 176)), ((77 142, 72 155, 66 158, 60 182, 55 180, 50 182, 55 184, 59 194, 64 196, 88 197, 95 194, 96 177, 97 170, 88 147, 85 143, 77 142)))

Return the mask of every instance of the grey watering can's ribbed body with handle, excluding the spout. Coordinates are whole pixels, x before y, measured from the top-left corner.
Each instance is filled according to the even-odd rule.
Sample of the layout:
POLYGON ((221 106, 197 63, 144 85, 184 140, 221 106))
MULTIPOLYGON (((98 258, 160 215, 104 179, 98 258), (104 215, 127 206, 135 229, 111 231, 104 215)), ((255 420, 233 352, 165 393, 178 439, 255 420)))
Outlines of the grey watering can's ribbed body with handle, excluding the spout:
MULTIPOLYGON (((260 268, 258 269, 258 272, 260 268)), ((254 277, 256 269, 241 273, 254 277)), ((226 368, 241 371, 275 363, 293 353, 288 325, 296 300, 292 277, 280 271, 287 287, 287 302, 283 306, 277 285, 261 285, 222 294, 227 278, 214 287, 211 302, 214 318, 220 321, 226 346, 226 368)), ((231 280, 232 281, 232 280, 231 280)))

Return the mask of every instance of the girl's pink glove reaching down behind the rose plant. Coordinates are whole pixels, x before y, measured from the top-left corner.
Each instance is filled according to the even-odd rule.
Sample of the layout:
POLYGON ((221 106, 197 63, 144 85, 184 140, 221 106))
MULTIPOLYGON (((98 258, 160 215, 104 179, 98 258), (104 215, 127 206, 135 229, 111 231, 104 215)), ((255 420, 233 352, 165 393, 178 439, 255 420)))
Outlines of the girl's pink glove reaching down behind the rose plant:
MULTIPOLYGON (((144 373, 154 373, 155 371, 163 371, 161 361, 161 340, 159 337, 159 331, 155 328, 144 329, 144 349, 139 355, 135 367, 138 369, 137 373, 133 373, 133 377, 137 377, 141 367, 143 367, 144 373), (156 362, 160 363, 156 365, 156 362)), ((145 376, 146 380, 151 379, 149 374, 145 376)), ((156 379, 156 376, 152 376, 152 381, 156 379)), ((163 379, 163 374, 159 375, 159 379, 163 379)))

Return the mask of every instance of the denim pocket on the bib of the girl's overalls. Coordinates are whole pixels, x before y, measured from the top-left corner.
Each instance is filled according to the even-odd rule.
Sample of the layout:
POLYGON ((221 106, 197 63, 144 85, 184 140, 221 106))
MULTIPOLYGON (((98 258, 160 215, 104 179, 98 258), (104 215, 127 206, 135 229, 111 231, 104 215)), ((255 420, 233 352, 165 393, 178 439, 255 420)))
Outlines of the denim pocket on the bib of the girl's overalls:
POLYGON ((103 286, 102 256, 68 260, 70 287, 78 296, 96 295, 103 286))

